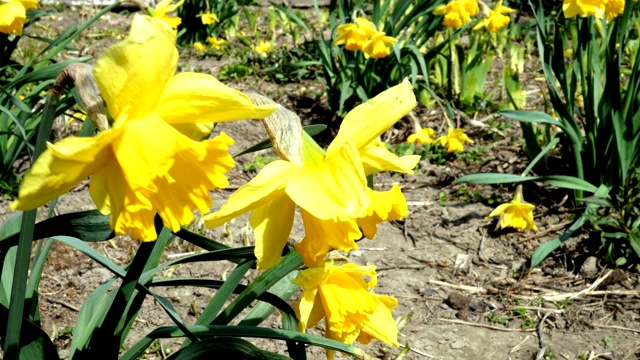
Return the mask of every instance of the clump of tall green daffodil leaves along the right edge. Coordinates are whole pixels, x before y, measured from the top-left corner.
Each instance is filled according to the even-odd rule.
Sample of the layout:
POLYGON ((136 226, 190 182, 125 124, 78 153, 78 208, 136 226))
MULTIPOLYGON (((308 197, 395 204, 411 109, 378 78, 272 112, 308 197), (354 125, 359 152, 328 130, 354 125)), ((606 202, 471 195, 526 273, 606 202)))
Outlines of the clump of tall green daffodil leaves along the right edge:
MULTIPOLYGON (((585 202, 587 210, 562 236, 538 248, 531 266, 586 222, 601 231, 606 259, 622 266, 632 255, 640 255, 640 220, 632 205, 639 191, 640 57, 626 55, 630 47, 636 46, 637 37, 630 29, 634 26, 632 19, 638 22, 638 10, 633 2, 627 2, 624 13, 609 23, 594 17, 566 19, 560 6, 556 7, 558 15, 550 18, 546 15, 548 10, 540 5, 534 14, 542 68, 556 117, 536 111, 502 114, 523 124, 559 129, 544 148, 540 148, 535 134, 525 131, 532 161, 522 179, 530 179, 524 175, 559 144, 559 155, 568 165, 569 176, 562 176, 554 185, 573 189, 575 200, 585 202), (575 57, 567 58, 570 54, 575 57), (633 62, 629 62, 631 59, 633 62), (585 191, 594 196, 585 198, 585 191), (603 206, 604 213, 598 212, 603 206)), ((498 180, 497 174, 476 175, 459 181, 498 180)), ((558 180, 558 176, 553 179, 558 180)))

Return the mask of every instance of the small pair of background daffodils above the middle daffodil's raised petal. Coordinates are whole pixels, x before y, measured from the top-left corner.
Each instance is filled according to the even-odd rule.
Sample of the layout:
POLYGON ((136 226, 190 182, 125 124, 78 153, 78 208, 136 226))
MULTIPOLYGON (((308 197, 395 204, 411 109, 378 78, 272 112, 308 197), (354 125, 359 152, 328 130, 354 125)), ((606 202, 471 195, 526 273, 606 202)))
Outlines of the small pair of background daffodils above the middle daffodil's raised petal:
POLYGON ((398 39, 386 36, 383 31, 376 30, 373 23, 363 17, 355 23, 342 24, 336 29, 336 45, 344 45, 349 51, 360 51, 367 58, 379 59, 391 53, 391 47, 398 39))

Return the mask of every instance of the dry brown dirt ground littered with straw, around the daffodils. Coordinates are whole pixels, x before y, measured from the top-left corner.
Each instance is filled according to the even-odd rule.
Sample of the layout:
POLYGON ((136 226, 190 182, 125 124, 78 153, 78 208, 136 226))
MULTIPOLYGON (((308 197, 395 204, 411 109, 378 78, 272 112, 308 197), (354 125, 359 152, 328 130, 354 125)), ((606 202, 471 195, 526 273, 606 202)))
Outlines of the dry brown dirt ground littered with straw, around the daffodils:
MULTIPOLYGON (((69 14, 62 18, 65 16, 69 14)), ((115 27, 125 34, 127 16, 108 14, 95 27, 115 27)), ((119 32, 114 33, 117 38, 119 32)), ((83 53, 99 56, 110 42, 116 41, 113 37, 102 40, 92 42, 83 53)), ((187 67, 214 75, 225 61, 198 57, 190 50, 181 52, 181 56, 181 62, 185 61, 187 67)), ((277 85, 251 79, 231 85, 242 90, 262 91, 303 115, 326 102, 321 96, 313 95, 322 91, 318 83, 277 85), (311 89, 308 92, 311 95, 305 101, 300 101, 296 91, 301 86, 311 89)), ((415 113, 423 126, 442 125, 435 110, 420 108, 415 113)), ((497 141, 495 138, 488 140, 486 128, 464 123, 463 127, 476 140, 470 149, 485 149, 483 161, 470 164, 456 160, 446 165, 422 161, 412 176, 378 175, 376 188, 387 189, 392 183, 401 185, 410 215, 400 223, 382 224, 375 240, 361 241, 360 249, 349 255, 355 263, 375 264, 379 274, 376 292, 398 299, 394 316, 406 322, 399 340, 411 349, 405 359, 640 358, 638 274, 607 269, 595 258, 584 255, 588 234, 571 240, 541 266, 529 271, 527 259, 538 245, 560 235, 568 226, 573 215, 571 207, 563 204, 564 193, 531 184, 525 186, 524 197, 537 205, 536 223, 540 232, 497 231, 495 220, 485 219, 492 207, 484 205, 486 202, 475 201, 468 194, 479 194, 483 199, 496 194, 501 202, 505 202, 510 200, 514 188, 452 185, 452 181, 477 171, 517 173, 518 169, 522 170, 526 166, 526 156, 521 150, 521 136, 517 128, 512 127, 497 141)), ((410 128, 410 121, 405 119, 386 136, 402 140, 410 128)), ((216 128, 216 132, 219 131, 236 140, 232 153, 266 137, 262 124, 257 121, 220 124, 216 128)), ((213 194, 214 208, 251 178, 253 174, 247 173, 243 164, 253 162, 258 155, 272 154, 266 152, 237 158, 236 167, 229 173, 230 187, 213 194)), ((10 215, 8 204, 8 201, 0 200, 0 221, 10 215)), ((85 182, 60 198, 57 212, 90 208, 94 206, 85 182)), ((246 216, 236 219, 229 229, 224 232, 214 229, 207 234, 230 245, 241 246, 252 241, 246 216)), ((301 234, 297 219, 292 241, 299 240, 301 234)), ((124 265, 130 261, 137 246, 131 240, 117 238, 113 242, 97 244, 96 248, 115 263, 124 265)), ((186 243, 176 241, 168 247, 165 257, 169 259, 193 250, 186 243)), ((231 263, 190 264, 173 268, 163 275, 219 279, 232 269, 231 263)), ((44 330, 59 335, 66 326, 73 326, 84 299, 109 277, 110 273, 91 259, 56 244, 40 287, 44 330)), ((190 323, 195 320, 194 315, 204 309, 214 291, 176 288, 159 293, 170 298, 183 319, 190 323)), ((291 300, 292 304, 295 298, 291 300)), ((158 326, 170 324, 160 306, 148 299, 127 344, 135 343, 158 326)), ((265 326, 279 326, 278 317, 272 315, 265 326)), ((321 334, 322 331, 314 329, 312 333, 321 334)), ((58 336, 55 343, 60 355, 66 358, 69 337, 58 336)), ((285 353, 283 343, 270 340, 255 340, 255 343, 285 353)), ((175 350, 178 345, 169 341, 162 344, 164 351, 167 348, 175 350)), ((400 352, 400 349, 376 342, 364 349, 383 359, 395 359, 400 352)), ((160 359, 163 354, 157 350, 149 352, 145 358, 160 359)), ((309 358, 322 359, 324 351, 310 348, 309 358)))

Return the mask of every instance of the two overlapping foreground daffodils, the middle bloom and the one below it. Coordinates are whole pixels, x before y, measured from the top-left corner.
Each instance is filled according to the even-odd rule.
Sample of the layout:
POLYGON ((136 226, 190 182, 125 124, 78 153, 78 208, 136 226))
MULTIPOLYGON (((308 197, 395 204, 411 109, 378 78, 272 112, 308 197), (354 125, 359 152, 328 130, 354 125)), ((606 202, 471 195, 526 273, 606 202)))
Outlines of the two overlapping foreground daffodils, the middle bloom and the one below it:
POLYGON ((390 313, 396 302, 370 291, 375 286, 374 268, 336 265, 326 256, 332 250, 357 249, 355 240, 372 238, 377 224, 406 216, 400 188, 369 189, 366 175, 413 172, 419 156, 397 157, 377 138, 415 104, 407 80, 382 92, 347 114, 326 151, 303 137, 301 161, 268 164, 219 211, 204 217, 207 226, 216 227, 251 212, 258 268, 264 269, 279 261, 296 205, 300 208, 305 237, 295 248, 309 267, 296 279, 304 290, 298 305, 301 326, 313 326, 325 317, 329 338, 348 343, 375 338, 398 344, 390 313), (363 276, 373 282, 365 282, 363 276))

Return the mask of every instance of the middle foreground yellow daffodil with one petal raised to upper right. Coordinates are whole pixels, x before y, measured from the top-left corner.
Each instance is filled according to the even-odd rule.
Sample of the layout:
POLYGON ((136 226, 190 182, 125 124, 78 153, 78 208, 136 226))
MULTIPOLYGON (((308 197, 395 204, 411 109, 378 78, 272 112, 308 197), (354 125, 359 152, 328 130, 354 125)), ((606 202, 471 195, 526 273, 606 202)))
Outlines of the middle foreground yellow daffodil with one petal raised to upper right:
MULTIPOLYGON (((305 227, 305 238, 296 248, 309 266, 331 249, 357 248, 354 240, 361 232, 356 220, 378 211, 371 209, 365 175, 383 170, 412 173, 420 160, 417 155, 398 158, 376 142, 415 104, 407 80, 382 92, 347 114, 326 153, 310 137, 304 137, 301 163, 277 160, 267 164, 218 212, 206 215, 205 224, 217 227, 251 212, 259 268, 278 262, 291 232, 296 204, 305 227)), ((387 215, 380 217, 393 218, 394 214, 389 214, 395 208, 398 206, 387 207, 387 215)))

